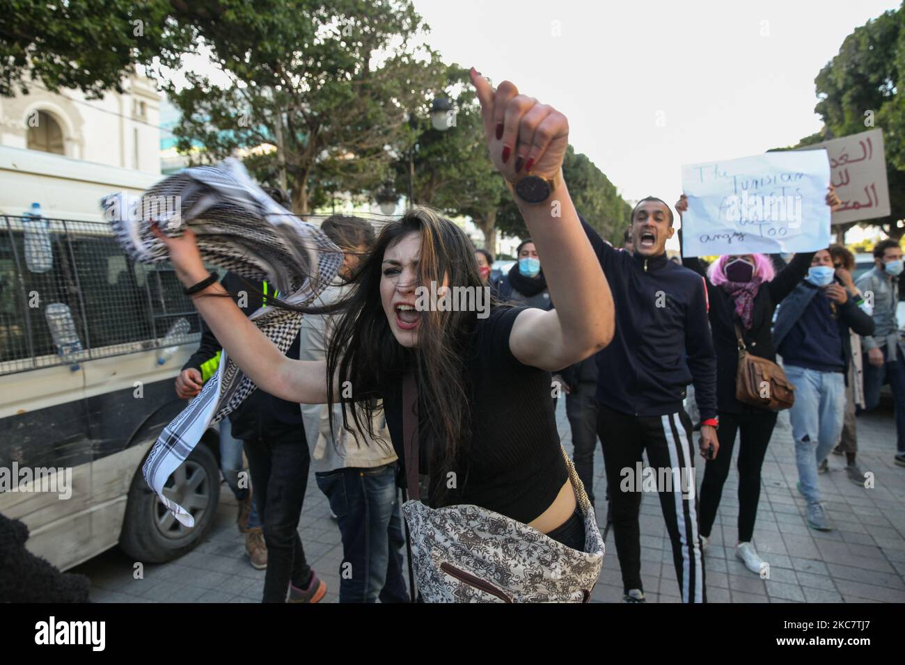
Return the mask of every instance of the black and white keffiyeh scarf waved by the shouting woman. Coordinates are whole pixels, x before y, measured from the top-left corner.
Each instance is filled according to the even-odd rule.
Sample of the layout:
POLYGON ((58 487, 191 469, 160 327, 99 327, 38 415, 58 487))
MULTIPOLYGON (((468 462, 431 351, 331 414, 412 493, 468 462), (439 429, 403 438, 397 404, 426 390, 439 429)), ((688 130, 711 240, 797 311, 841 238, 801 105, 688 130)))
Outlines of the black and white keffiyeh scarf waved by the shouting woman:
MULTIPOLYGON (((167 235, 191 228, 205 263, 249 280, 268 280, 280 291, 281 299, 293 305, 309 304, 329 286, 342 265, 342 252, 318 227, 301 221, 264 194, 232 158, 219 166, 194 166, 169 176, 138 203, 138 211, 126 211, 123 195, 101 200, 117 239, 134 261, 167 261, 167 248, 151 233, 151 222, 157 222, 167 235)), ((286 353, 299 333, 301 316, 269 307, 254 312, 250 319, 286 353)), ((205 430, 233 412, 255 389, 224 350, 217 372, 164 428, 148 453, 142 467, 145 480, 186 527, 193 527, 195 519, 164 496, 164 484, 186 461, 205 430)))

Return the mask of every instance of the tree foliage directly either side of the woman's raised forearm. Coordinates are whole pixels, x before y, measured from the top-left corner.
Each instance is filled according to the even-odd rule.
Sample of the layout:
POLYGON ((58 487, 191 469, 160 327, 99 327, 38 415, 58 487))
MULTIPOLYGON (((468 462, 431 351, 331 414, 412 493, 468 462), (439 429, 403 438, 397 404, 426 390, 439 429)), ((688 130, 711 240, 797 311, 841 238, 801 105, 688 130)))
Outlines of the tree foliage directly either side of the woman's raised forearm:
MULTIPOLYGON (((605 239, 621 244, 628 227, 632 206, 625 203, 599 168, 582 153, 569 146, 563 159, 563 179, 576 210, 605 239)), ((510 199, 500 209, 497 218, 500 231, 511 236, 527 237, 528 229, 519 214, 518 206, 510 199)))

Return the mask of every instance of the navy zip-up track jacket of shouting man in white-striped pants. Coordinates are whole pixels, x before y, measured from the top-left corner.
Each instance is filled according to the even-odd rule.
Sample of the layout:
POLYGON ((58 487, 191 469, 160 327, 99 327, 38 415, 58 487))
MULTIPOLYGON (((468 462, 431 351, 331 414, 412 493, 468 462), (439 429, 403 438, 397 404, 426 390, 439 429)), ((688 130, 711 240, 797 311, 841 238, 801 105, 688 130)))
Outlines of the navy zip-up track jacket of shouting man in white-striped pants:
POLYGON ((613 293, 615 334, 597 354, 597 401, 639 416, 676 413, 694 383, 702 420, 717 414, 717 359, 704 280, 667 259, 614 250, 585 233, 613 293))

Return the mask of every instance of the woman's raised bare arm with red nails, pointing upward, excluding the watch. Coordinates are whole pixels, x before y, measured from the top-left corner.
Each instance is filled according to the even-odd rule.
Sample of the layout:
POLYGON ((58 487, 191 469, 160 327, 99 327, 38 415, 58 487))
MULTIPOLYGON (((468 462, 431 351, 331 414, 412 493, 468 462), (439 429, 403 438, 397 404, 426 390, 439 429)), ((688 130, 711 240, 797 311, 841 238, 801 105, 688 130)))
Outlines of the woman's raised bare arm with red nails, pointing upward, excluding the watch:
POLYGON ((562 179, 568 121, 557 109, 519 94, 510 81, 493 90, 472 68, 472 83, 500 174, 510 184, 525 176, 548 181, 550 191, 537 203, 520 196, 518 185, 514 196, 556 309, 522 312, 510 348, 525 365, 556 371, 609 344, 615 326, 613 295, 562 179))

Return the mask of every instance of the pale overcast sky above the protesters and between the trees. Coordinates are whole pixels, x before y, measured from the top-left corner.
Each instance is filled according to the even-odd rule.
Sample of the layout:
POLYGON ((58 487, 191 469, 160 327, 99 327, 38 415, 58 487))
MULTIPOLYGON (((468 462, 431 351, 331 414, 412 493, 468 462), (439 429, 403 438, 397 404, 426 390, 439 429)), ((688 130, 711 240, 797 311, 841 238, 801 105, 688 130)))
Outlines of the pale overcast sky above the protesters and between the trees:
POLYGON ((681 165, 747 157, 821 128, 814 77, 892 0, 414 0, 446 62, 566 113, 625 198, 672 204, 681 165), (558 32, 558 34, 557 34, 558 32))

